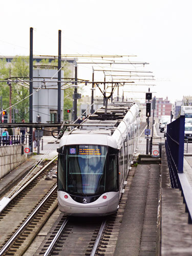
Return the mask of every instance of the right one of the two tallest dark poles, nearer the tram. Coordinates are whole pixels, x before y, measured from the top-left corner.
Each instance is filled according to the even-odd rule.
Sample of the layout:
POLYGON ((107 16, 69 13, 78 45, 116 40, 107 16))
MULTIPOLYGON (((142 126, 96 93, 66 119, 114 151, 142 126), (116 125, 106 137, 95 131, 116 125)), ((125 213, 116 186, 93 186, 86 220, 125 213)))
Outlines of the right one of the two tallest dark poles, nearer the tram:
POLYGON ((60 123, 61 113, 61 30, 58 33, 58 101, 57 101, 57 122, 60 123))

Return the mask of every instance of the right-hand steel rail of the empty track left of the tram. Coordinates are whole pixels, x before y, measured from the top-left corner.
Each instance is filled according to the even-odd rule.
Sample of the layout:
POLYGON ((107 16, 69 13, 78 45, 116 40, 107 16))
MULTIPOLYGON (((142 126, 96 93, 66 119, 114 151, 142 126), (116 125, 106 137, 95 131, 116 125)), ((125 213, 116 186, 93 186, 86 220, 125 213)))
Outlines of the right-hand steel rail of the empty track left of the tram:
POLYGON ((48 198, 55 192, 56 189, 57 189, 57 185, 55 185, 51 189, 51 191, 48 193, 48 195, 40 202, 40 204, 33 210, 33 212, 26 219, 26 221, 17 229, 17 231, 13 234, 13 236, 9 239, 9 241, 3 246, 3 248, 0 250, 0 255, 2 255, 8 249, 8 247, 11 245, 11 243, 13 243, 15 238, 19 235, 20 232, 23 231, 23 229, 31 221, 31 219, 35 216, 35 214, 40 209, 40 207, 48 200, 48 198))

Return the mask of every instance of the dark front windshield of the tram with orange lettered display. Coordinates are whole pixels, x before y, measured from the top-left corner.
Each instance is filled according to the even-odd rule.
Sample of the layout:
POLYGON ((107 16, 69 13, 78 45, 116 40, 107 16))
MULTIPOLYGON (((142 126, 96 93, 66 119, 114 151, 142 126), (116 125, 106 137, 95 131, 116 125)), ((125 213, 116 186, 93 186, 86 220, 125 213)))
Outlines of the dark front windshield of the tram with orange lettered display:
POLYGON ((63 147, 58 160, 58 190, 91 196, 117 191, 117 187, 117 155, 110 154, 109 147, 63 147))

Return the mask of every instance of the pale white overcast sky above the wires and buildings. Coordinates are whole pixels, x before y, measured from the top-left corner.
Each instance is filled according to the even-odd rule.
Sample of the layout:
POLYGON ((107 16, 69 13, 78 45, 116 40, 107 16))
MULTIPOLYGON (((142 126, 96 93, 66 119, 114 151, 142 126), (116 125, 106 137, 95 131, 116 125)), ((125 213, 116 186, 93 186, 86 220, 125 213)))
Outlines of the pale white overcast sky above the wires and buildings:
MULTIPOLYGON (((134 54, 130 60, 149 62, 144 69, 155 75, 153 96, 168 96, 173 103, 192 96, 191 5, 189 0, 1 1, 0 55, 29 55, 30 27, 34 54, 57 55, 60 29, 62 54, 134 54)), ((91 65, 79 67, 79 78, 91 75, 91 65)))

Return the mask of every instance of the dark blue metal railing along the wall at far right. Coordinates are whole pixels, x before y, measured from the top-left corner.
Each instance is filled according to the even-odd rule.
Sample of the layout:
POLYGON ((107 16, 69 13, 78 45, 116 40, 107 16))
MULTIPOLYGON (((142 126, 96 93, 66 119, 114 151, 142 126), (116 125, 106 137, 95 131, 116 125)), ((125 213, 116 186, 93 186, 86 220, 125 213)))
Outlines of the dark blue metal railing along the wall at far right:
POLYGON ((173 188, 182 191, 185 211, 188 212, 188 223, 192 224, 192 189, 183 173, 185 117, 180 116, 167 124, 165 149, 169 167, 170 182, 173 188))

